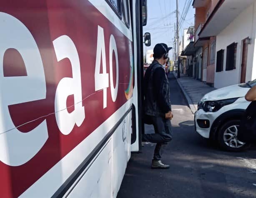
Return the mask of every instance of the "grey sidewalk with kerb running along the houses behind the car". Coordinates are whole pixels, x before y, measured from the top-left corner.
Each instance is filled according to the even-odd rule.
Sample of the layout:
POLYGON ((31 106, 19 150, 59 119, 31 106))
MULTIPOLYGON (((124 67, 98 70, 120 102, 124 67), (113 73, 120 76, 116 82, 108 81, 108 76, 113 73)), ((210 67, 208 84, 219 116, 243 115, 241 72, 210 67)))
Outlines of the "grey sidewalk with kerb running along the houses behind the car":
POLYGON ((191 77, 187 77, 181 73, 181 78, 177 78, 177 73, 173 72, 178 84, 181 87, 183 94, 191 108, 192 112, 195 113, 197 110, 198 102, 203 98, 206 93, 209 93, 216 88, 210 87, 205 83, 196 80, 191 77))

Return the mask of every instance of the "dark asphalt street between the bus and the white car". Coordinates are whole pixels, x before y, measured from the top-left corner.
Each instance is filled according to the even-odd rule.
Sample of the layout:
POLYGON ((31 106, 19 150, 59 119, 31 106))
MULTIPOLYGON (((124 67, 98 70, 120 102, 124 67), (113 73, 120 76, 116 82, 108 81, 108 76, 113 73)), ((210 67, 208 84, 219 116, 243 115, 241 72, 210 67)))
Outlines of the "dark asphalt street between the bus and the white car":
MULTIPOLYGON (((256 148, 225 152, 198 135, 177 80, 169 77, 173 140, 162 162, 171 168, 151 169, 155 144, 145 144, 132 154, 118 198, 255 198, 256 148)), ((152 125, 145 130, 154 133, 152 125)))

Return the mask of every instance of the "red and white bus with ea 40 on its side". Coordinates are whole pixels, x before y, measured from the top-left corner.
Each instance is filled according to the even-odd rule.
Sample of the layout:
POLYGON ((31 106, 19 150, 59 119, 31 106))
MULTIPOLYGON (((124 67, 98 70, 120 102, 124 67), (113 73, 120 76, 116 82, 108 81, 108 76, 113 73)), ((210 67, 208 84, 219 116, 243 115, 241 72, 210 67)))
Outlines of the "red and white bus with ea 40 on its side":
POLYGON ((117 196, 141 149, 146 10, 1 0, 0 197, 117 196))

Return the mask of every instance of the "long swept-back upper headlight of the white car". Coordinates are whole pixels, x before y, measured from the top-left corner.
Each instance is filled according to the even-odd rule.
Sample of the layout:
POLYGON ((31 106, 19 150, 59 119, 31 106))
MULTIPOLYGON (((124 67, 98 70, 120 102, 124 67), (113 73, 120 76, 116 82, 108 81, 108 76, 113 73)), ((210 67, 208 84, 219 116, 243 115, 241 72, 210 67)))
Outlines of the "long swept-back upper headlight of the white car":
POLYGON ((201 108, 203 108, 205 112, 216 112, 220 110, 223 106, 234 103, 237 99, 238 98, 230 98, 226 100, 206 101, 201 103, 201 108))

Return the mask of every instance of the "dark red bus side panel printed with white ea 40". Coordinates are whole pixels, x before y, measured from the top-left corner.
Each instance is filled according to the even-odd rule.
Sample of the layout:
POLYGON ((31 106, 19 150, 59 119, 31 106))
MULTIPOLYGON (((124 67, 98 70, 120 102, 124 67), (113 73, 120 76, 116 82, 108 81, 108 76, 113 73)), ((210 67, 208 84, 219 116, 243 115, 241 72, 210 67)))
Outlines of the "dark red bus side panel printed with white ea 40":
POLYGON ((87 0, 0 18, 0 196, 18 197, 131 98, 132 42, 87 0))

